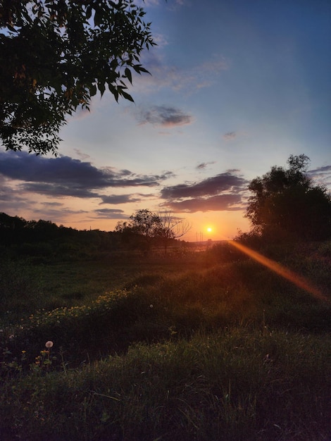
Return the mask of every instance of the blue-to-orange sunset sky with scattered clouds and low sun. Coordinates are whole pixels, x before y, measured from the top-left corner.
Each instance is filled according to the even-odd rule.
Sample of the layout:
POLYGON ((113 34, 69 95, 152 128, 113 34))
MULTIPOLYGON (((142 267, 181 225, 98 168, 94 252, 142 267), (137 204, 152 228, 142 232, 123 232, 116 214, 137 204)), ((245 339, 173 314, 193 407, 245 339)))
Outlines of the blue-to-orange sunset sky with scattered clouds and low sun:
POLYGON ((247 231, 249 182, 306 154, 331 190, 331 2, 145 0, 157 46, 135 103, 94 97, 58 156, 0 147, 0 212, 111 231, 172 211, 184 240, 247 231), (208 231, 208 229, 211 231, 208 231))

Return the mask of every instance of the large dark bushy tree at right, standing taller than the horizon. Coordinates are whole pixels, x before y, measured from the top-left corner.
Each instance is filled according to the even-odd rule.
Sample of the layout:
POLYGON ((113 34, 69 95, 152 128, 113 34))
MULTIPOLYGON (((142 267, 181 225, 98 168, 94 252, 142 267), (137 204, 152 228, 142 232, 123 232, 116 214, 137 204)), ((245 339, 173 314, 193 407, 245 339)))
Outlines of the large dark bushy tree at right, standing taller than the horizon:
POLYGON ((291 155, 289 168, 273 166, 251 181, 246 217, 253 233, 269 241, 331 237, 331 197, 308 178, 308 161, 304 154, 291 155))

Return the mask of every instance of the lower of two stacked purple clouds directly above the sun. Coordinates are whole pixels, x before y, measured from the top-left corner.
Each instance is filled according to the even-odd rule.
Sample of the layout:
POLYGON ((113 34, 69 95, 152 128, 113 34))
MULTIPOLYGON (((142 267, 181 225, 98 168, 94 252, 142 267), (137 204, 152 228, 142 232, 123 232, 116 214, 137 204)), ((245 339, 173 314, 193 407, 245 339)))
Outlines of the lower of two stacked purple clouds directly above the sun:
POLYGON ((196 211, 237 211, 244 208, 239 194, 218 194, 217 196, 185 201, 168 201, 163 204, 177 212, 196 213, 196 211))

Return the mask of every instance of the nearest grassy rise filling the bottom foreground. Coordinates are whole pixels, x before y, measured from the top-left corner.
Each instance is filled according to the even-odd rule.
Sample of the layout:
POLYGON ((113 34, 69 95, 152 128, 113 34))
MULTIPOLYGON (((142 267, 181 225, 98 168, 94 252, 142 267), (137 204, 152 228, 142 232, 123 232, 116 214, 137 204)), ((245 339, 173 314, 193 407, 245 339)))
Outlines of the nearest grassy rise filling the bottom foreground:
POLYGON ((0 433, 27 441, 323 441, 330 347, 330 336, 234 328, 137 344, 58 373, 41 365, 46 352, 30 374, 4 383, 0 433))

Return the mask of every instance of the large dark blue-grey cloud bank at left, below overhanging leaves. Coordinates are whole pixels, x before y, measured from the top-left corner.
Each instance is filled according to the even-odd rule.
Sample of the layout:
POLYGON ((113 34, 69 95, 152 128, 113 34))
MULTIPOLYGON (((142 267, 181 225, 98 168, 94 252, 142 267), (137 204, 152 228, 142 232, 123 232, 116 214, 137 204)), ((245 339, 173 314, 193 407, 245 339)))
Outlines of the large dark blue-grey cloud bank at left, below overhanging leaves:
POLYGON ((68 156, 45 158, 23 151, 0 151, 0 174, 11 180, 25 181, 20 185, 21 191, 83 198, 100 197, 93 190, 108 187, 155 187, 173 176, 170 171, 161 175, 137 175, 130 170, 96 168, 90 162, 68 156))

